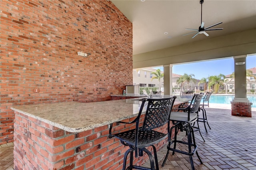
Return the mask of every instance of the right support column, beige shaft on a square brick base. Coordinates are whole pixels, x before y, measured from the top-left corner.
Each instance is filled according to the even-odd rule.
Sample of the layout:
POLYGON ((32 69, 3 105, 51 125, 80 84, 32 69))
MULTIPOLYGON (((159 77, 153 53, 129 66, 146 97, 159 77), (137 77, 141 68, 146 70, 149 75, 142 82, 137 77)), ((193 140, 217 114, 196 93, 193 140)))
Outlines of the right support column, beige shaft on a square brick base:
POLYGON ((235 97, 231 101, 231 115, 252 117, 252 103, 246 97, 246 55, 234 56, 235 97))

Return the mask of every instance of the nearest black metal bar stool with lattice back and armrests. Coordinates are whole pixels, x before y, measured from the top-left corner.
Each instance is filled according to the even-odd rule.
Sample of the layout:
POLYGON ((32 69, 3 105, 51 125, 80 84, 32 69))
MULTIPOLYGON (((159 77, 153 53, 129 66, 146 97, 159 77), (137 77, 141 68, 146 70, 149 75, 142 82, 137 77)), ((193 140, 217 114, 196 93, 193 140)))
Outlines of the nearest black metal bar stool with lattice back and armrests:
POLYGON ((168 132, 163 133, 155 129, 161 129, 166 124, 168 124, 167 131, 168 129, 170 129, 170 113, 175 99, 176 96, 166 99, 142 99, 139 114, 136 119, 134 119, 134 121, 118 122, 124 124, 136 124, 136 128, 134 129, 112 134, 112 124, 110 125, 109 137, 116 137, 121 141, 123 145, 130 147, 124 154, 123 170, 132 170, 133 168, 155 170, 155 164, 156 170, 159 170, 156 147, 154 146, 154 144, 157 144, 161 140, 165 139, 166 136, 168 136, 168 132), (148 102, 147 110, 144 118, 140 120, 140 116, 142 114, 142 110, 146 101, 148 102), (146 147, 148 146, 152 146, 153 148, 154 159, 152 153, 148 149, 146 149, 146 147), (133 152, 135 152, 135 157, 137 158, 138 156, 143 156, 143 151, 146 152, 146 154, 148 154, 149 156, 151 168, 133 165, 133 152), (126 159, 129 153, 130 165, 128 166, 128 168, 126 168, 126 159))

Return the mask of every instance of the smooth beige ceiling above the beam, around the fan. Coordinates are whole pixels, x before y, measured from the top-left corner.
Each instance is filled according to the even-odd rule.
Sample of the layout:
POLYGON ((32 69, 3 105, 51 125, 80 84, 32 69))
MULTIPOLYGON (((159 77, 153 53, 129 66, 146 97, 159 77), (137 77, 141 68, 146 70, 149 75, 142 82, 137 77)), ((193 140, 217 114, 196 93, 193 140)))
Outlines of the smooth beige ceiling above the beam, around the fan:
MULTIPOLYGON (((200 0, 111 0, 133 24, 133 55, 206 40, 256 28, 256 0, 204 0, 204 27, 223 22, 207 31, 188 34, 201 25, 200 0), (164 32, 168 32, 167 35, 164 32), (195 33, 196 34, 196 33, 195 33)), ((255 35, 253 35, 255 36, 255 35)))

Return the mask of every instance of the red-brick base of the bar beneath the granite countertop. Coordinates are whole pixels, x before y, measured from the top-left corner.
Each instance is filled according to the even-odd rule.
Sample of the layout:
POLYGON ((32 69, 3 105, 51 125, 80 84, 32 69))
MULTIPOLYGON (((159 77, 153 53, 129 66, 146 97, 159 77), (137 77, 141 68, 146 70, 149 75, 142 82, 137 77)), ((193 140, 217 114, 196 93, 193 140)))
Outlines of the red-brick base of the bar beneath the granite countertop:
MULTIPOLYGON (((124 152, 129 147, 122 145, 117 138, 108 138, 108 125, 71 133, 22 113, 16 112, 15 117, 14 169, 122 169, 124 152)), ((133 119, 124 121, 128 122, 133 119)), ((162 127, 160 131, 167 133, 166 127, 162 127)), ((129 128, 131 128, 130 125, 115 123, 112 132, 129 128)), ((155 144, 156 149, 162 148, 166 142, 162 140, 155 144)), ((152 147, 148 149, 152 151, 152 147)), ((148 156, 144 153, 144 156, 134 159, 134 163, 142 165, 147 159, 148 156)))

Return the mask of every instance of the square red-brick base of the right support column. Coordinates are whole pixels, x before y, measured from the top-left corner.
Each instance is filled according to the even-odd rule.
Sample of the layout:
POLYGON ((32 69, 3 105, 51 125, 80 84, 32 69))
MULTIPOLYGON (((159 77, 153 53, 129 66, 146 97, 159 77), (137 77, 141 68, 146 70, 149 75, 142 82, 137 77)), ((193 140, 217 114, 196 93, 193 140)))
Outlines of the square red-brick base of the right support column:
POLYGON ((248 102, 230 102, 231 103, 231 115, 252 117, 252 103, 248 102))

